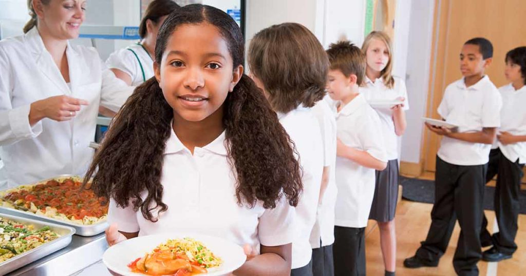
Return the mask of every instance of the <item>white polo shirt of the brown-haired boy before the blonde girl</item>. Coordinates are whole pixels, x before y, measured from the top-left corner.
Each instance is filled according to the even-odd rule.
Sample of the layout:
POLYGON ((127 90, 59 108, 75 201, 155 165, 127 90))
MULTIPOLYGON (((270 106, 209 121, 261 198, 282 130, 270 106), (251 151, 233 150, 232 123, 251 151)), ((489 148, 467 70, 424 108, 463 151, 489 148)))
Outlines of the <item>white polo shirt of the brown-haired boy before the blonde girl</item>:
MULTIPOLYGON (((367 151, 387 162, 385 142, 377 112, 361 94, 344 106, 336 117, 338 139, 348 147, 367 151)), ((375 194, 375 169, 358 165, 347 158, 336 158, 336 222, 341 227, 367 226, 375 194)))

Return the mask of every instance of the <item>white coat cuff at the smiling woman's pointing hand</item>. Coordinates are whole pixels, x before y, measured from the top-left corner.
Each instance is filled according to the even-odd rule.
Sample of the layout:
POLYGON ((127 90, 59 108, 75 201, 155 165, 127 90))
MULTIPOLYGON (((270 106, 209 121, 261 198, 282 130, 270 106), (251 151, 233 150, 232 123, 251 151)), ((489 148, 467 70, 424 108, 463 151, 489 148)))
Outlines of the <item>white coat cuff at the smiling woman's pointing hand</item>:
POLYGON ((13 108, 9 112, 9 125, 16 137, 35 138, 42 133, 42 121, 37 122, 33 127, 29 125, 29 110, 31 105, 24 105, 13 108))

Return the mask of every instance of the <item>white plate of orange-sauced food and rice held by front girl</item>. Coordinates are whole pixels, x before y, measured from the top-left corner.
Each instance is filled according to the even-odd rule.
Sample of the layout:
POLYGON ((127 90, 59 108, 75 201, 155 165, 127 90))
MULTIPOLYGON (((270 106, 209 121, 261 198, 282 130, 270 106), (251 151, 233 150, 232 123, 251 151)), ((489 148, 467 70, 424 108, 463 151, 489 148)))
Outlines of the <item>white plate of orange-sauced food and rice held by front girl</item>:
POLYGON ((238 244, 195 234, 155 234, 119 242, 102 258, 106 267, 125 276, 224 275, 246 261, 238 244))

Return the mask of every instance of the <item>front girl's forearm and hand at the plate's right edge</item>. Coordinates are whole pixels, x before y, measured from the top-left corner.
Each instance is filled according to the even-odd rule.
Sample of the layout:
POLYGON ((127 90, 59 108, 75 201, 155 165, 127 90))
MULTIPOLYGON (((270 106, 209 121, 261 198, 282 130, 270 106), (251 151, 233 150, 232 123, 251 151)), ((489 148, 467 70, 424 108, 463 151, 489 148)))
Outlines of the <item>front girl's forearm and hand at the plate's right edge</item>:
POLYGON ((261 244, 260 254, 245 246, 247 261, 234 275, 290 275, 292 266, 292 243, 268 247, 261 244))

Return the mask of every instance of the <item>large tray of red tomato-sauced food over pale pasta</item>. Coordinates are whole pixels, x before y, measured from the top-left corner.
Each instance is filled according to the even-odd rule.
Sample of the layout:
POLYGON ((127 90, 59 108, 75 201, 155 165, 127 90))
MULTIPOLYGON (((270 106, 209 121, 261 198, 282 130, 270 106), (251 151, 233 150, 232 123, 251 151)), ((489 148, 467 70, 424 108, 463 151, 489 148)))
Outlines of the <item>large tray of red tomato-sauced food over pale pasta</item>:
POLYGON ((108 200, 82 189, 78 176, 58 176, 0 191, 0 210, 66 224, 80 236, 94 236, 108 226, 108 200))

